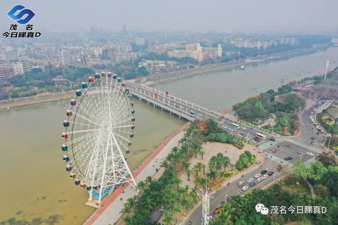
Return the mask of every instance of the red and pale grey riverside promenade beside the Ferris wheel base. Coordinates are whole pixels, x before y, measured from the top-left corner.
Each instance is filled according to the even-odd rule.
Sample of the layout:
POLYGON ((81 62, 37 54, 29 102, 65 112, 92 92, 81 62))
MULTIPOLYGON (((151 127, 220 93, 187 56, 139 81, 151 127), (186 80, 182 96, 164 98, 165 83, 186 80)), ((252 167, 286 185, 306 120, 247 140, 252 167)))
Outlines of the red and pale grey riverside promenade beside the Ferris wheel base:
MULTIPOLYGON (((163 162, 165 157, 171 151, 171 148, 178 145, 178 141, 184 135, 184 128, 186 125, 178 129, 172 135, 170 135, 147 159, 146 161, 134 171, 133 176, 136 181, 136 184, 144 180, 147 176, 159 177, 164 170, 160 169, 156 173, 156 169, 160 168, 160 164, 163 162), (161 174, 160 174, 161 173, 161 174)), ((119 186, 112 195, 106 196, 102 203, 103 206, 100 207, 96 214, 86 223, 87 225, 101 225, 101 224, 114 224, 120 218, 120 211, 123 208, 123 203, 126 202, 128 198, 134 197, 137 195, 135 188, 132 188, 131 185, 127 187, 119 186), (122 193, 124 191, 125 193, 122 193), (122 198, 122 201, 121 199, 122 198)))

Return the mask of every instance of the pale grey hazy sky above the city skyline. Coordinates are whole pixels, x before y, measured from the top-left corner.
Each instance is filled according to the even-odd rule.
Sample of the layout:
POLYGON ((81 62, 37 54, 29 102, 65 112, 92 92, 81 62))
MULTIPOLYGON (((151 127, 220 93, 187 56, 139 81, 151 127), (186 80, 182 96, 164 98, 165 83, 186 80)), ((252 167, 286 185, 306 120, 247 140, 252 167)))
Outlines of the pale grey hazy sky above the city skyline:
POLYGON ((17 4, 31 9, 35 17, 30 24, 43 24, 46 31, 85 31, 90 25, 119 31, 123 23, 127 30, 259 32, 338 28, 334 11, 338 0, 1 0, 1 29, 7 30, 15 22, 6 14, 17 4))

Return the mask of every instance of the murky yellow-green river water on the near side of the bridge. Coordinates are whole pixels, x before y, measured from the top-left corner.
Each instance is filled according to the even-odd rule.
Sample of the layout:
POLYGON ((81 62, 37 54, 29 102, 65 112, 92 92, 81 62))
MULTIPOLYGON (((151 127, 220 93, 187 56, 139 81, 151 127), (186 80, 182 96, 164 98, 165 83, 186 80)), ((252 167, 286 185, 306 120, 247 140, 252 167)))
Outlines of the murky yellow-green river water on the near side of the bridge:
MULTIPOLYGON (((134 100, 136 129, 128 155, 131 170, 186 122, 134 100)), ((62 100, 0 110, 0 222, 12 217, 29 222, 41 218, 48 225, 79 225, 94 212, 84 205, 87 191, 74 185, 62 161, 62 122, 69 106, 70 100, 62 100)))

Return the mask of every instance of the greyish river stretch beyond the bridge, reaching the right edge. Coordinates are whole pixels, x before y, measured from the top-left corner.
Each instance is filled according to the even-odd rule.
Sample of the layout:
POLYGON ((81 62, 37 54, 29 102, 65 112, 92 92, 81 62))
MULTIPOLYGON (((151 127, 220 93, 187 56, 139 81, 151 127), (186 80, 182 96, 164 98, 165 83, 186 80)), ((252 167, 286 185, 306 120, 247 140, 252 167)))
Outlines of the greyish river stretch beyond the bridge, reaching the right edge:
MULTIPOLYGON (((338 48, 288 59, 275 59, 239 67, 171 80, 153 86, 169 94, 177 94, 188 101, 214 109, 225 110, 250 95, 269 89, 276 90, 292 80, 311 77, 324 72, 328 59, 338 59, 338 48)), ((337 66, 332 61, 330 67, 337 66)))

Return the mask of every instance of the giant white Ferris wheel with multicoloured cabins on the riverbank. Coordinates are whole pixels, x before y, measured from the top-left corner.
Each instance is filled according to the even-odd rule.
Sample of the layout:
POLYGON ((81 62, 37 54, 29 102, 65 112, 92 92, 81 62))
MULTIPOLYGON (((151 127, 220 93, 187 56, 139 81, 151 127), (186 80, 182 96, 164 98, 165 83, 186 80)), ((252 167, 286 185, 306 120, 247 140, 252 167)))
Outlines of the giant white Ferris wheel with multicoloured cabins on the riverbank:
POLYGON ((118 185, 136 186, 126 163, 134 137, 134 103, 122 78, 95 74, 76 90, 62 133, 63 161, 75 185, 98 202, 118 185))

